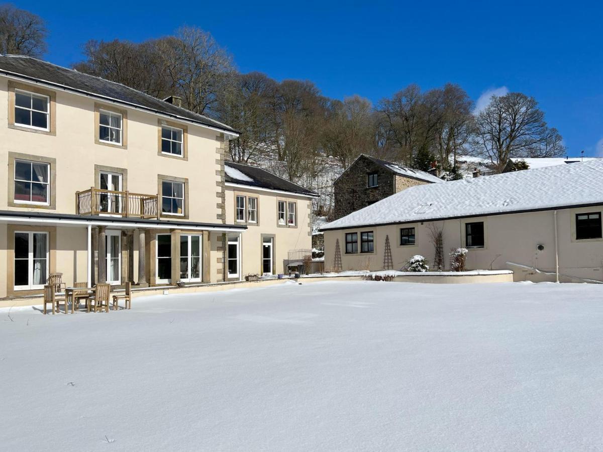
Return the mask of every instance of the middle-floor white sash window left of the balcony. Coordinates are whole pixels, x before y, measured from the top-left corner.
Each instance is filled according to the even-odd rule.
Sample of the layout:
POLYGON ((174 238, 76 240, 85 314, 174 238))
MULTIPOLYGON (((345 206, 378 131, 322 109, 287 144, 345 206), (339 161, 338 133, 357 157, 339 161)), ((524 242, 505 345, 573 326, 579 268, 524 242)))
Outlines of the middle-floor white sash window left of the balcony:
POLYGON ((14 161, 14 201, 48 205, 50 165, 48 163, 14 161))

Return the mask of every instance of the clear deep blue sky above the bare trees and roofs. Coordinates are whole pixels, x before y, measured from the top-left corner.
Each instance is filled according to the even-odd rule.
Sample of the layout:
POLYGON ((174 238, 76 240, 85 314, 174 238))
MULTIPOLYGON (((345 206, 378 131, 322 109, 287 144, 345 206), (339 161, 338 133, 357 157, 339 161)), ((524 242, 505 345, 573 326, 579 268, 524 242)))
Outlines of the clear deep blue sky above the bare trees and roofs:
POLYGON ((409 83, 458 83, 478 101, 534 96, 570 155, 603 155, 603 5, 578 2, 41 2, 53 63, 88 39, 140 41, 197 25, 242 72, 314 81, 326 96, 373 102, 409 83))

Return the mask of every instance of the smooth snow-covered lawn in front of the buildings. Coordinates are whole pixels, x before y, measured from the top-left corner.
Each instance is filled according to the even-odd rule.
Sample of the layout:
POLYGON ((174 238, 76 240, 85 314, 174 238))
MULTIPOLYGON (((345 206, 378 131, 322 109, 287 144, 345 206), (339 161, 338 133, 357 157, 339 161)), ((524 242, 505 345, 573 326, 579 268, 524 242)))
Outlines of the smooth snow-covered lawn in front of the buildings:
POLYGON ((291 281, 4 309, 0 375, 6 451, 603 450, 603 287, 291 281))

